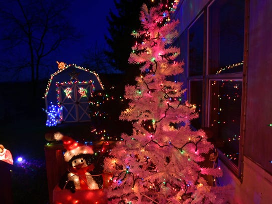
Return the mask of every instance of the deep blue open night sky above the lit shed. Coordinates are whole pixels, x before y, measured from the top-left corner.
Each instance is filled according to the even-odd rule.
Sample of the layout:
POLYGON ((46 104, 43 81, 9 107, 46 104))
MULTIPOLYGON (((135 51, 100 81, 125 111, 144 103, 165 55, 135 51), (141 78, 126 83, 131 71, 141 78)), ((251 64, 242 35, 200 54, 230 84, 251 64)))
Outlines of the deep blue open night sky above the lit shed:
MULTIPOLYGON (((3 2, 2 2, 3 3, 3 2)), ((76 30, 82 35, 78 40, 66 41, 50 57, 44 60, 52 67, 41 71, 41 78, 49 78, 50 74, 58 70, 56 61, 64 61, 67 64, 77 64, 83 61, 83 54, 87 49, 92 49, 97 43, 100 48, 106 48, 108 45, 104 35, 108 35, 108 22, 106 16, 109 16, 110 8, 115 11, 113 0, 73 0, 71 7, 67 10, 67 17, 75 26, 76 30)), ((4 29, 5 30, 5 29, 4 29)), ((5 59, 7 52, 5 46, 3 49, 0 40, 0 60, 5 59)), ((20 47, 20 52, 24 52, 24 47, 20 47)), ((11 55, 10 55, 11 56, 11 55)), ((12 56, 17 57, 17 56, 12 56)), ((18 57, 19 58, 19 57, 18 57)), ((5 70, 0 66, 0 82, 4 81, 30 81, 30 70, 20 73, 20 77, 12 77, 13 70, 5 70)))

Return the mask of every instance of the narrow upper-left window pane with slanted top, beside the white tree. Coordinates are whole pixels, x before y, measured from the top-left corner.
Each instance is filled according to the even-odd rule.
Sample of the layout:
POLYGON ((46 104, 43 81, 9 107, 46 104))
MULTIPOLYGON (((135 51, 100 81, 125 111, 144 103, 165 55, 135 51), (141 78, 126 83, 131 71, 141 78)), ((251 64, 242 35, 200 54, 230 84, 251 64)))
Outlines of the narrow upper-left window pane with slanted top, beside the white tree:
POLYGON ((188 29, 189 76, 203 73, 204 15, 202 14, 188 29))

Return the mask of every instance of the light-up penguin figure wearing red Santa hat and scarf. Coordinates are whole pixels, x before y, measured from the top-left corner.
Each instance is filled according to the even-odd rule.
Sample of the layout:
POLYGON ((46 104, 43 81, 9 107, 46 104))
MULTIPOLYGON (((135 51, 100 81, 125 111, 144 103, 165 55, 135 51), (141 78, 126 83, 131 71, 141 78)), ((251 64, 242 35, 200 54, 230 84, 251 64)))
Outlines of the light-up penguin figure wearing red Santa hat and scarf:
POLYGON ((101 166, 97 166, 98 154, 94 154, 93 148, 81 144, 69 136, 57 132, 56 140, 63 140, 64 159, 68 162, 67 172, 62 176, 59 186, 62 189, 76 190, 103 188, 103 176, 101 166))

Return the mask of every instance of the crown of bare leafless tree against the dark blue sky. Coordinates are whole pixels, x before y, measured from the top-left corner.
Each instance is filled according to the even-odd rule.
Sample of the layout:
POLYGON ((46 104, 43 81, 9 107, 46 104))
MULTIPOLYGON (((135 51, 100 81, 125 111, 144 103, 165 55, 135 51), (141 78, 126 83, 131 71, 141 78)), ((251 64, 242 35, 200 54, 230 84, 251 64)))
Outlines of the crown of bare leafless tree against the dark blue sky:
POLYGON ((48 67, 45 57, 80 37, 66 17, 68 8, 67 0, 0 0, 0 26, 5 27, 0 40, 6 54, 1 65, 13 70, 27 67, 32 81, 39 80, 40 70, 48 67))

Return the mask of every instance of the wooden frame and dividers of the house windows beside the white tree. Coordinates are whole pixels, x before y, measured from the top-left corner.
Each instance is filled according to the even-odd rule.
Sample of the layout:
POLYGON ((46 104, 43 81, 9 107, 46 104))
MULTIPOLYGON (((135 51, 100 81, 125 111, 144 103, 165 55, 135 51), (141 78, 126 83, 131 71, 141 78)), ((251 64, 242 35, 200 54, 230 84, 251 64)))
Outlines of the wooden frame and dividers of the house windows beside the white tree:
POLYGON ((240 141, 239 141, 239 156, 238 165, 230 161, 221 150, 218 149, 220 160, 240 179, 242 180, 243 171, 243 138, 245 132, 245 103, 246 103, 246 73, 247 73, 247 47, 248 47, 248 16, 249 3, 247 0, 244 2, 244 38, 243 38, 243 65, 241 72, 233 73, 220 73, 210 74, 209 72, 209 6, 212 5, 216 0, 212 0, 199 12, 195 19, 186 28, 187 31, 187 62, 189 64, 189 29, 197 21, 197 19, 203 14, 204 15, 204 40, 203 40, 203 74, 196 76, 189 76, 189 65, 187 65, 187 96, 189 102, 191 101, 191 81, 202 80, 202 127, 210 126, 210 106, 211 106, 211 81, 213 80, 239 80, 242 82, 242 95, 241 95, 241 111, 240 111, 240 141))

